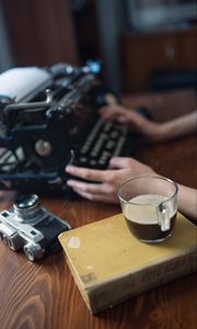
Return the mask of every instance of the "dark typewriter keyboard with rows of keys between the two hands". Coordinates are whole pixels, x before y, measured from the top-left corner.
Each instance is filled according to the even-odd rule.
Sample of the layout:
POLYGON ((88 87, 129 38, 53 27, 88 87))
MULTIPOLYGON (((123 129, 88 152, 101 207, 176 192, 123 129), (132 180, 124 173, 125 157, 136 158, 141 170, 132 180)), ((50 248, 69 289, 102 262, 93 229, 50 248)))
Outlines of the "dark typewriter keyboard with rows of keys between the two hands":
POLYGON ((99 120, 79 150, 78 166, 107 168, 109 159, 121 154, 127 134, 127 127, 99 120))

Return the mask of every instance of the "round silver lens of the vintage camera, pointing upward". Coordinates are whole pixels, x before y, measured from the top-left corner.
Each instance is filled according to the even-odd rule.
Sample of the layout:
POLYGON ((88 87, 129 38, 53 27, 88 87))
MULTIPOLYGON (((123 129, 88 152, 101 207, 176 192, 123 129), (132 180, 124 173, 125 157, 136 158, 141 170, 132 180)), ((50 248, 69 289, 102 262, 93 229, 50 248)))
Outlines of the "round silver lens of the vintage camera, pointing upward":
POLYGON ((43 214, 37 194, 21 195, 14 202, 13 209, 19 222, 34 223, 43 214))

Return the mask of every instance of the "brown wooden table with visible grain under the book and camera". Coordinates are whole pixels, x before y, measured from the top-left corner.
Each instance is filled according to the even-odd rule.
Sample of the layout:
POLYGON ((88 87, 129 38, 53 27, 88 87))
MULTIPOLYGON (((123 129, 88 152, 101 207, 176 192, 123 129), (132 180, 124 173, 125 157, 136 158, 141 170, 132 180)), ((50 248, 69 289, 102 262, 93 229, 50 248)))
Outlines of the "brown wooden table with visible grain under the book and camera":
MULTIPOLYGON (((194 90, 125 97, 129 106, 148 105, 155 120, 197 109, 194 90)), ((197 188, 196 137, 188 136, 141 150, 141 160, 171 179, 197 188)), ((0 209, 12 201, 1 202, 0 209)), ((43 206, 78 227, 120 212, 118 205, 79 200, 43 200, 43 206)), ((197 274, 178 279, 121 305, 91 316, 73 282, 63 253, 39 264, 0 242, 1 329, 196 329, 197 274)))

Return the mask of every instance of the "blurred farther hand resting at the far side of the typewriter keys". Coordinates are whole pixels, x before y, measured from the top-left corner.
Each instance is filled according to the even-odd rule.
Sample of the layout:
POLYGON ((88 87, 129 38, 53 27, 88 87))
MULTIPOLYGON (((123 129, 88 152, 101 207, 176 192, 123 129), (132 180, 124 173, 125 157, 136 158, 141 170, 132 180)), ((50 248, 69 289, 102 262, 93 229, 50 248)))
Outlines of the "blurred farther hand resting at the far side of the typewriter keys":
POLYGON ((137 111, 114 104, 100 109, 100 115, 104 121, 114 120, 120 124, 129 125, 149 139, 162 139, 162 125, 143 117, 137 111))

